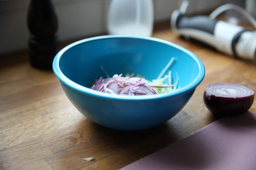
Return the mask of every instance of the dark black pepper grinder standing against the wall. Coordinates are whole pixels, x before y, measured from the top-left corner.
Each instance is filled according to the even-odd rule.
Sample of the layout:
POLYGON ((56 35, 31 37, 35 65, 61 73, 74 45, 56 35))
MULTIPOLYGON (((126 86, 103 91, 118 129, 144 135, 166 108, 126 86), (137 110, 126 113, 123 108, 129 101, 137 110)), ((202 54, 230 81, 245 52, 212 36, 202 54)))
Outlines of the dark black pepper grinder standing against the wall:
POLYGON ((29 28, 29 60, 40 69, 52 68, 58 52, 57 15, 51 0, 31 0, 27 15, 29 28))

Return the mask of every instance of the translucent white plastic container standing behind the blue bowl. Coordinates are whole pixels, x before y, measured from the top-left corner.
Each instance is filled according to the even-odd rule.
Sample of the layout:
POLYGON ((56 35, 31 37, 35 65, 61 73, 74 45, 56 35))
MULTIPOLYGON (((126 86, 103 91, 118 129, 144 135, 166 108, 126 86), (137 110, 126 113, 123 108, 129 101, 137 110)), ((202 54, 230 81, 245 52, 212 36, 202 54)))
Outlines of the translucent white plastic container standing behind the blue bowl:
POLYGON ((108 34, 151 36, 152 0, 112 0, 108 10, 108 34))

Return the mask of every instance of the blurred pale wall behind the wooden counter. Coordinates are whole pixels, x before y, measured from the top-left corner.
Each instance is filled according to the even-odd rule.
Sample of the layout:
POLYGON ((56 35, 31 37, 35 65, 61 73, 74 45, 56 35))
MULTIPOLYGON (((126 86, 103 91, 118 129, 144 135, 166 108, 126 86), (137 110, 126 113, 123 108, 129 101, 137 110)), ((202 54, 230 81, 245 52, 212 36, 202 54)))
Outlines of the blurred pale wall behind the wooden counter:
MULTIPOLYGON (((58 16, 61 41, 106 31, 110 0, 52 0, 58 16)), ((153 0, 155 21, 167 20, 179 7, 179 0, 153 0)), ((190 0, 190 14, 209 11, 223 0, 190 0)), ((0 0, 0 55, 27 48, 29 32, 26 14, 29 0, 0 0)))

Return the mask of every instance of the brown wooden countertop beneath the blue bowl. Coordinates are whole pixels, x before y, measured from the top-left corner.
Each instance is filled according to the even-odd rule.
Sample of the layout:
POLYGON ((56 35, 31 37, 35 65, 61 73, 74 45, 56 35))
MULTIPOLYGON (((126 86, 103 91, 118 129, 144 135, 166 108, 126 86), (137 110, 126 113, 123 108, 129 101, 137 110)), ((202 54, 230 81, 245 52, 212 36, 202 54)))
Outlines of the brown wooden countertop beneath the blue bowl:
MULTIPOLYGON (((256 91, 255 64, 186 42, 169 27, 157 29, 153 37, 195 53, 206 75, 180 113, 138 132, 90 122, 67 99, 52 71, 29 65, 27 51, 0 57, 0 169, 116 170, 213 122, 203 102, 210 83, 239 83, 256 91)), ((250 111, 256 113, 255 102, 250 111)))

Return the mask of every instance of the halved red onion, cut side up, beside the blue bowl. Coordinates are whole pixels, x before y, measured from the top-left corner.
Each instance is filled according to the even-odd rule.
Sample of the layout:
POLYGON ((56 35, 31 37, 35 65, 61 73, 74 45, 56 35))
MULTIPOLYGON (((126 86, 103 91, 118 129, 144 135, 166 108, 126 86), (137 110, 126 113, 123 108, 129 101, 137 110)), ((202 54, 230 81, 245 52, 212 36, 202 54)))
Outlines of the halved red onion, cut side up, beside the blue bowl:
POLYGON ((204 103, 216 116, 233 116, 249 110, 254 91, 233 83, 210 84, 204 91, 204 103))

